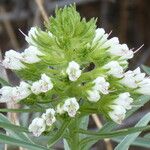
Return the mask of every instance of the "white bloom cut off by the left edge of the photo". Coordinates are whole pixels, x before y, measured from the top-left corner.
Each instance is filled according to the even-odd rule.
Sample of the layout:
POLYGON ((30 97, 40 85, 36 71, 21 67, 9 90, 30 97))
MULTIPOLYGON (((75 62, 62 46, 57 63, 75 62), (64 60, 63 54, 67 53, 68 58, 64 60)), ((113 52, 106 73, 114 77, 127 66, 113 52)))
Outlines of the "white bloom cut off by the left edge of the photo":
POLYGON ((0 102, 11 102, 12 101, 12 90, 13 87, 4 86, 0 89, 0 102))

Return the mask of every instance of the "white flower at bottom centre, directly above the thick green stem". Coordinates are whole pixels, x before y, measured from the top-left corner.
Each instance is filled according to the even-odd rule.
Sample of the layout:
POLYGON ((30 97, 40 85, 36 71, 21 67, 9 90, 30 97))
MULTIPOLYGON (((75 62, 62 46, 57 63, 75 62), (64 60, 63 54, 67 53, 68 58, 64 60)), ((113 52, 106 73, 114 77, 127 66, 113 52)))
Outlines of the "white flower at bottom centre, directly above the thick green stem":
POLYGON ((63 109, 68 112, 70 117, 75 117, 77 110, 79 109, 79 104, 76 98, 68 98, 63 105, 63 109))

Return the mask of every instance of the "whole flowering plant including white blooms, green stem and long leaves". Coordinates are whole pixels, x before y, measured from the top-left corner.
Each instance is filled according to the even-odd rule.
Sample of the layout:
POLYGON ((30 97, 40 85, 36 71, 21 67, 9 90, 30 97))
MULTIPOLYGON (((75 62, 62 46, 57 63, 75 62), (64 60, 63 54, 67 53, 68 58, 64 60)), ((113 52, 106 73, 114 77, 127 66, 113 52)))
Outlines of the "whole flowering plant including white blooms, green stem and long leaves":
POLYGON ((8 112, 40 112, 40 115, 28 129, 1 116, 0 126, 11 130, 10 136, 1 135, 7 138, 4 143, 47 150, 63 138, 65 149, 86 150, 99 139, 150 128, 114 130, 149 100, 149 96, 141 95, 150 95, 150 79, 139 67, 126 71, 134 52, 126 44, 120 44, 117 37, 109 39, 110 34, 96 29, 95 23, 95 19, 82 19, 75 6, 58 9, 56 16, 45 24, 45 31, 32 27, 25 35, 29 47, 24 52, 5 53, 3 66, 13 70, 21 82, 15 87, 3 86, 0 102, 28 107, 5 109, 8 112), (102 114, 108 123, 97 132, 88 131, 91 114, 102 114), (36 144, 25 132, 29 136, 29 132, 35 137, 45 136, 47 146, 36 144))

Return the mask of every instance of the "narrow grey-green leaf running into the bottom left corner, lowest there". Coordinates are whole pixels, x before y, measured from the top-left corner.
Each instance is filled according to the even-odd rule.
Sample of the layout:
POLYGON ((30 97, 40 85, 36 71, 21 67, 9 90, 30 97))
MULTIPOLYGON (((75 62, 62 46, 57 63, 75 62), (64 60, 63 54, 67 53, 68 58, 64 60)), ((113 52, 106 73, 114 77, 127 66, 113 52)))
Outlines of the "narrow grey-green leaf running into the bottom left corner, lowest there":
POLYGON ((15 139, 15 138, 6 136, 4 134, 0 134, 0 142, 5 143, 5 144, 11 144, 11 145, 15 145, 15 146, 25 147, 25 148, 28 148, 30 150, 49 150, 43 146, 24 142, 24 141, 21 141, 19 139, 15 139))

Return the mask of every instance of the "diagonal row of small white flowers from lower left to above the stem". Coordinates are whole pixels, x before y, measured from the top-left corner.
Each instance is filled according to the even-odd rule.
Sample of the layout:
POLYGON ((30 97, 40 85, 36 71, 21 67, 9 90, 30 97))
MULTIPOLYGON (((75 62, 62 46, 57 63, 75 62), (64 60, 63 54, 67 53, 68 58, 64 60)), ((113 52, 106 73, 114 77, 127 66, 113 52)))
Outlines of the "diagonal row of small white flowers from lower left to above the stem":
MULTIPOLYGON (((70 117, 75 117, 77 110, 79 109, 79 104, 76 98, 68 98, 65 100, 62 106, 57 106, 57 113, 63 114, 68 113, 70 117)), ((29 131, 33 133, 34 136, 40 136, 46 127, 51 127, 56 121, 56 111, 53 108, 46 110, 41 117, 35 118, 29 126, 29 131)))

